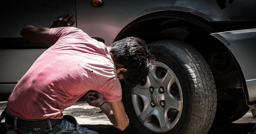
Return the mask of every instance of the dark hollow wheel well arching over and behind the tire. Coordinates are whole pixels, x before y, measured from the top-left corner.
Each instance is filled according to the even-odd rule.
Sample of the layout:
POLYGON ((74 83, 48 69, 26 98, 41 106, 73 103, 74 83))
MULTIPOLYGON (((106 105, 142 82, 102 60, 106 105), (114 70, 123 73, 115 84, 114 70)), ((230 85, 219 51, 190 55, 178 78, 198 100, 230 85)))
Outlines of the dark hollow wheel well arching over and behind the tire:
POLYGON ((241 76, 232 54, 222 42, 210 35, 239 28, 226 27, 226 23, 210 22, 187 12, 166 12, 141 16, 127 25, 115 41, 127 36, 139 37, 146 42, 184 41, 196 48, 208 62, 215 78, 218 100, 244 99, 241 76))

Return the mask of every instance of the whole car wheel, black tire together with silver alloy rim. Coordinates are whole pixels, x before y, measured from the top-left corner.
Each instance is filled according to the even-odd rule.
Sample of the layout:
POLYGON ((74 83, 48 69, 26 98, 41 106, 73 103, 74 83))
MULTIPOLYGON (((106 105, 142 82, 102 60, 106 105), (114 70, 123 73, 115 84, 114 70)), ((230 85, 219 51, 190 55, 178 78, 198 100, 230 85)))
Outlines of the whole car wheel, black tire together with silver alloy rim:
POLYGON ((123 102, 136 134, 206 134, 215 118, 217 94, 201 54, 176 40, 148 44, 156 61, 136 87, 122 84, 123 102))

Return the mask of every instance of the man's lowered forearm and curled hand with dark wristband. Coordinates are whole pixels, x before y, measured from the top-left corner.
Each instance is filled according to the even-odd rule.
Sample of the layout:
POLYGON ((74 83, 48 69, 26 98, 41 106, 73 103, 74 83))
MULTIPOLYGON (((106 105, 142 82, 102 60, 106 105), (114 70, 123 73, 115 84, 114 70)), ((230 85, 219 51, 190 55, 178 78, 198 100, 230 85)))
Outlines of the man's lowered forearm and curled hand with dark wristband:
POLYGON ((102 111, 108 116, 108 119, 116 128, 124 130, 128 126, 129 119, 124 110, 122 100, 104 103, 103 95, 98 92, 88 92, 85 95, 85 99, 90 106, 101 106, 102 111))

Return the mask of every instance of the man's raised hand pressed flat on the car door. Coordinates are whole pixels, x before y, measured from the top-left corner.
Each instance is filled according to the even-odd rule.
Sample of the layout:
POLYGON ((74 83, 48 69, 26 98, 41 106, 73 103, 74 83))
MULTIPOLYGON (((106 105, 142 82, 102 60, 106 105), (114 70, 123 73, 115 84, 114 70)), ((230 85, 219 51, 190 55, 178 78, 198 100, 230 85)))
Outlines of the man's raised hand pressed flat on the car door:
POLYGON ((53 21, 50 28, 72 26, 75 23, 74 19, 71 20, 72 16, 72 14, 67 13, 62 16, 59 16, 53 21))

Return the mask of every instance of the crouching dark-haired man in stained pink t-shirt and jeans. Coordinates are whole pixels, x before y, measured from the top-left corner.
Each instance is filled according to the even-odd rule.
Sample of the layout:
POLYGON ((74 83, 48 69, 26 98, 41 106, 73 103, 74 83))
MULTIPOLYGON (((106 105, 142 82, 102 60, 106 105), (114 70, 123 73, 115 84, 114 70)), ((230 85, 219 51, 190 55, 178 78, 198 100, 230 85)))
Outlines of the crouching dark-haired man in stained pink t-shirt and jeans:
POLYGON ((62 114, 86 93, 89 105, 100 107, 115 127, 127 127, 120 81, 136 86, 153 69, 154 57, 135 37, 114 42, 108 51, 102 42, 69 27, 75 22, 71 18, 72 14, 60 16, 50 29, 21 30, 25 39, 51 47, 15 86, 4 112, 7 130, 96 134, 62 114))

